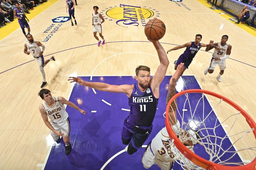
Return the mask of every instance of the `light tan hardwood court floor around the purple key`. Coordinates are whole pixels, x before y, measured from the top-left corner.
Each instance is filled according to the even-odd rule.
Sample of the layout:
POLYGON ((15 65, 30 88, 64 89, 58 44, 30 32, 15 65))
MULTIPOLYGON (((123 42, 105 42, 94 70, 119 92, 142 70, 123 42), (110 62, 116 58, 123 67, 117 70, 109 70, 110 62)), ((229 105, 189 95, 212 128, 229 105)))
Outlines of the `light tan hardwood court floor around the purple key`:
MULTIPOLYGON (((48 83, 45 88, 50 89, 53 96, 69 98, 73 87, 73 84, 67 81, 69 76, 135 75, 134 70, 138 65, 149 66, 151 74, 155 74, 159 60, 154 46, 148 42, 144 34, 140 20, 139 26, 124 25, 122 21, 118 22, 121 25, 119 26, 116 22, 122 18, 118 18, 118 13, 108 13, 112 17, 116 14, 117 19, 108 17, 106 11, 110 7, 119 7, 119 1, 77 1, 77 26, 71 26, 70 21, 62 25, 52 22, 53 18, 68 16, 65 12, 65 2, 60 0, 29 22, 35 40, 43 42, 46 41, 46 37, 49 38, 47 42, 43 42, 46 46, 45 58, 50 58, 52 54, 56 57, 55 62, 51 61, 45 67, 48 83), (102 34, 107 43, 100 47, 97 46, 92 33, 94 5, 99 6, 99 11, 104 10, 102 13, 104 18, 107 18, 102 24, 102 34), (51 27, 51 31, 53 28, 58 28, 58 31, 49 32, 49 26, 54 26, 51 27)), ((148 19, 156 17, 165 23, 166 33, 160 42, 166 51, 176 45, 194 41, 197 33, 203 35, 202 43, 208 43, 210 40, 219 42, 221 36, 227 34, 232 52, 230 59, 226 60, 227 69, 221 83, 216 79, 218 67, 213 74, 204 76, 204 70, 209 66, 212 55, 205 51, 198 52, 184 75, 195 75, 203 89, 228 97, 256 120, 253 114, 256 111, 254 36, 194 0, 184 0, 183 4, 168 0, 161 1, 161 4, 159 1, 146 0, 122 3, 145 6, 144 8, 154 12, 154 16, 148 19)), ((120 15, 122 16, 122 12, 120 15)), ((148 14, 145 12, 145 15, 148 14)), ((38 110, 42 102, 37 96, 42 82, 38 63, 32 61, 31 55, 23 53, 25 38, 21 29, 1 40, 0 44, 0 80, 3 82, 0 88, 0 169, 41 169, 53 142, 38 110)), ((183 48, 172 51, 168 55, 170 66, 167 75, 174 73, 172 63, 184 50, 183 48)), ((91 110, 88 109, 86 112, 90 114, 91 110)), ((227 111, 226 115, 228 114, 231 113, 227 111)), ((241 127, 246 126, 244 123, 245 121, 241 120, 241 127)), ((239 145, 255 144, 255 138, 248 137, 245 142, 239 145)), ((254 152, 243 155, 244 159, 249 160, 254 157, 254 152)))

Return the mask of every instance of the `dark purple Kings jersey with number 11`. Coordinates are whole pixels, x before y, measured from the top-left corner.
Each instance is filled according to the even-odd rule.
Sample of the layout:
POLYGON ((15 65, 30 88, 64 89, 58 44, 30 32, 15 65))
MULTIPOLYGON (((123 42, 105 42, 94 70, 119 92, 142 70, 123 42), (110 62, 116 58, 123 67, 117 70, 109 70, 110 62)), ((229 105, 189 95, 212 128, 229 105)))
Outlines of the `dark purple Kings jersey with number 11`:
POLYGON ((133 84, 132 95, 129 98, 130 119, 139 126, 151 126, 156 114, 158 99, 155 98, 151 87, 141 92, 138 82, 133 84))

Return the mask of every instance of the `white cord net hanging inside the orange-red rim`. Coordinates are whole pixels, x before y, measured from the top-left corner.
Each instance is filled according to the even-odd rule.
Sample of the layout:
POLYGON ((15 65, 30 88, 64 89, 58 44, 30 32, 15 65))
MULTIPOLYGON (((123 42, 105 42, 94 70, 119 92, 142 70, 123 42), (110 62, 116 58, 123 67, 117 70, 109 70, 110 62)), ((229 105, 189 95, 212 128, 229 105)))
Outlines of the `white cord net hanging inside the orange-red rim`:
MULTIPOLYGON (((204 93, 185 93, 177 97, 175 104, 180 121, 177 136, 181 137, 184 130, 193 129, 200 136, 198 144, 194 145, 198 156, 226 166, 242 166, 255 158, 254 129, 233 106, 204 93)), ((183 169, 203 169, 181 152, 176 154, 176 162, 183 169)))

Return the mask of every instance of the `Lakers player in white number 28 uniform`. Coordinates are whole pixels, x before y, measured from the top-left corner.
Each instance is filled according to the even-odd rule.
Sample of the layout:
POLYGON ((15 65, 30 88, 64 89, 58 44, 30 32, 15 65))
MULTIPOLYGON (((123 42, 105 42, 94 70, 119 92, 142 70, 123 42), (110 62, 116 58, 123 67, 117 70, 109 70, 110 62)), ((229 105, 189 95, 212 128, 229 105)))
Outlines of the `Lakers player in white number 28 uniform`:
POLYGON ((205 49, 205 51, 209 51, 212 48, 215 48, 215 50, 212 54, 212 60, 211 60, 211 63, 210 63, 210 67, 207 67, 204 70, 204 75, 206 75, 207 73, 212 74, 216 65, 219 65, 220 74, 217 76, 218 82, 221 82, 221 77, 220 76, 222 76, 224 74, 224 70, 226 68, 225 60, 231 54, 232 46, 230 44, 228 44, 227 41, 228 41, 228 35, 223 35, 221 37, 220 42, 212 44, 213 43, 213 41, 212 41, 205 49))

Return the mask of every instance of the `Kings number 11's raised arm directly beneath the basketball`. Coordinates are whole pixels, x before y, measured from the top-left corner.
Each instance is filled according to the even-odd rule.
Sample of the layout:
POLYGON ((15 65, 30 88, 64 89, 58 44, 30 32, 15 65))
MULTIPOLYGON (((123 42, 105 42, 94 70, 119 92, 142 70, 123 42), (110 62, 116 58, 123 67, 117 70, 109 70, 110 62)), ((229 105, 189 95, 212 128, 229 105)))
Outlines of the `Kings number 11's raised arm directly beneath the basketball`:
POLYGON ((152 42, 156 48, 156 51, 157 51, 157 54, 158 54, 158 57, 160 60, 160 65, 158 66, 158 68, 156 70, 155 76, 153 78, 151 78, 149 84, 150 84, 151 88, 153 89, 154 96, 156 98, 158 98, 159 97, 159 86, 160 86, 161 82, 163 81, 164 76, 166 74, 166 71, 167 71, 167 68, 169 65, 169 60, 168 60, 167 55, 164 51, 164 48, 162 47, 160 42, 159 41, 152 41, 152 42))

